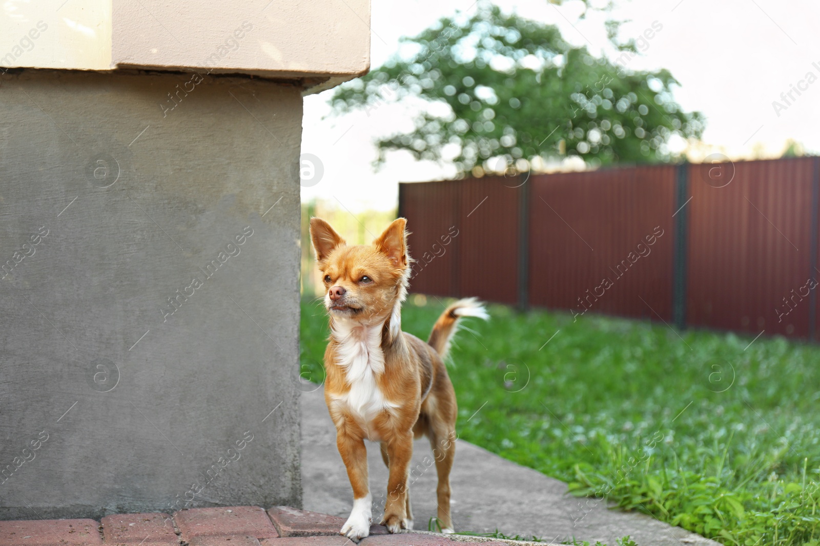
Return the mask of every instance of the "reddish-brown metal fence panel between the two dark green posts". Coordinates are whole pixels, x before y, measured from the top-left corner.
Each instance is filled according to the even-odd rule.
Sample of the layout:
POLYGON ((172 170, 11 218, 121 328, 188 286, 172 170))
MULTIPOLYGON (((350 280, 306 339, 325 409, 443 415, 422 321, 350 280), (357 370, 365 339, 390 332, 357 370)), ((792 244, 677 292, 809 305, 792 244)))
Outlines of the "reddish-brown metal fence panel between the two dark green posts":
POLYGON ((672 317, 675 167, 531 177, 533 305, 672 317))

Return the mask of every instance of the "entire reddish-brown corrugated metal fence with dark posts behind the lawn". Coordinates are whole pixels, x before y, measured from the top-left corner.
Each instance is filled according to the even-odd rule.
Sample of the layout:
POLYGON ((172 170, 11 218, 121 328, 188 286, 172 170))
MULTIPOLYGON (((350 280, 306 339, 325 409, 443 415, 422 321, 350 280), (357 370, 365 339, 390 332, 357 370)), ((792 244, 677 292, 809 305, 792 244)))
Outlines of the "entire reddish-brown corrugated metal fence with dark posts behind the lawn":
POLYGON ((818 158, 403 183, 411 290, 815 337, 818 158))

